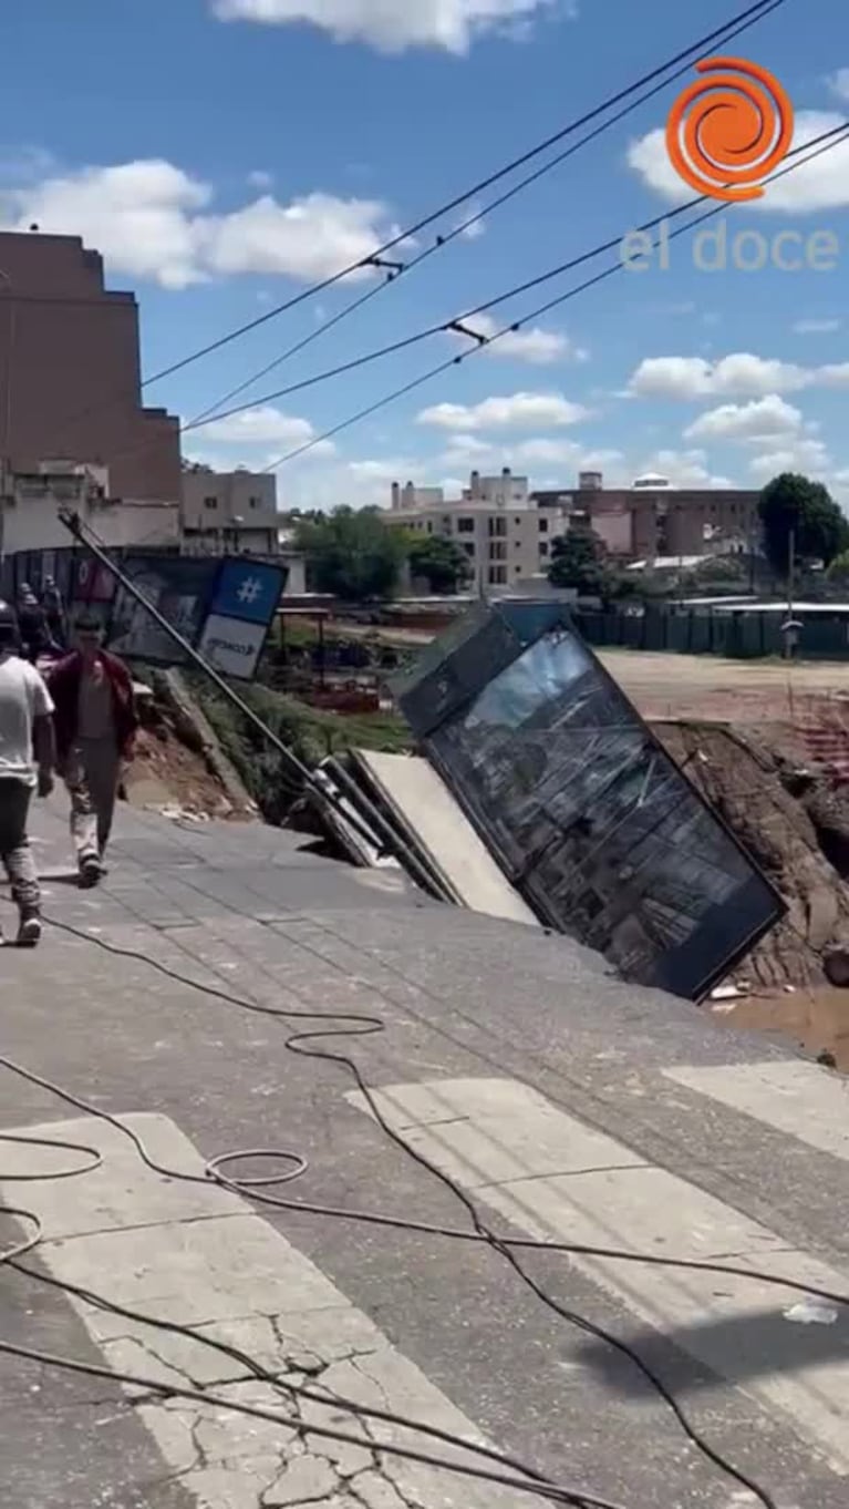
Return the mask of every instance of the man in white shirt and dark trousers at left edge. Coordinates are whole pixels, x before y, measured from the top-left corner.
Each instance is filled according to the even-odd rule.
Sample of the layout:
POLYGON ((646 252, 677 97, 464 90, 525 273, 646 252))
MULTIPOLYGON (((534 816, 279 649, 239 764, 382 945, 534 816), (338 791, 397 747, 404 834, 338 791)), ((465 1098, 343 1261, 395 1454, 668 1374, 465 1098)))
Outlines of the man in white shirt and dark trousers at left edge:
POLYGON ((18 907, 18 945, 41 939, 41 887, 27 839, 33 791, 53 791, 53 700, 35 665, 18 655, 18 623, 0 604, 0 863, 18 907))

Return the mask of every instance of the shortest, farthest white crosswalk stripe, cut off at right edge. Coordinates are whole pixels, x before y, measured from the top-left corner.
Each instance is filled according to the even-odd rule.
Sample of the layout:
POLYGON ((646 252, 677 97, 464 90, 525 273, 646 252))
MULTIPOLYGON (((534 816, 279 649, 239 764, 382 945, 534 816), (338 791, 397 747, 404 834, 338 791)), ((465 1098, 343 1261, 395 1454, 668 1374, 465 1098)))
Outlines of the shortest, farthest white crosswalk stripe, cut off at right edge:
POLYGON ((819 1064, 719 1064, 664 1070, 686 1089, 721 1100, 733 1111, 799 1138, 819 1153, 849 1160, 849 1083, 819 1064))

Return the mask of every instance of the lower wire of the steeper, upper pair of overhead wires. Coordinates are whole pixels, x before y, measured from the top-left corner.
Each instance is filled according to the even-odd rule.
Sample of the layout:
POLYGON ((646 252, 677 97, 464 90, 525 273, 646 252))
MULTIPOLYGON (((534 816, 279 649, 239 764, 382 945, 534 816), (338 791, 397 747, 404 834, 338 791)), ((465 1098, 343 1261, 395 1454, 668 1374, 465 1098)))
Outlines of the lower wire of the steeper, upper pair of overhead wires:
MULTIPOLYGON (((728 44, 736 36, 740 36, 743 32, 748 32, 749 27, 756 26, 759 21, 765 20, 768 15, 777 11, 781 5, 784 5, 784 0, 765 0, 765 3, 766 9, 759 11, 756 15, 749 15, 748 12, 745 12, 746 20, 740 21, 740 24, 728 21, 727 27, 730 27, 730 30, 722 27, 721 29, 722 35, 719 32, 713 32, 709 38, 703 39, 703 42, 694 44, 694 48, 691 48, 691 51, 698 51, 701 45, 719 41, 719 36, 722 45, 728 44)), ((629 115, 633 113, 633 110, 638 110, 641 106, 647 104, 656 95, 662 94, 664 89, 667 89, 671 83, 676 83, 676 80, 683 78, 686 74, 689 74, 689 71, 692 69, 692 63, 694 59, 692 57, 688 59, 688 62, 683 63, 682 68, 676 68, 676 71, 671 72, 667 78, 662 78, 661 83, 656 83, 651 89, 645 91, 645 94, 641 94, 636 100, 630 100, 626 106, 623 106, 621 110, 617 110, 615 115, 609 116, 600 125, 594 127, 594 130, 588 131, 587 136, 582 136, 579 142, 573 142, 572 146, 567 146, 562 152, 558 152, 556 157, 549 158, 549 161, 543 163, 543 166, 537 167, 532 174, 528 174, 525 178, 520 178, 517 184, 513 184, 511 189, 507 189, 496 199, 492 199, 489 204, 481 205, 481 208, 477 210, 475 214, 460 222, 460 225, 455 225, 454 229, 449 231, 446 235, 439 235, 430 246, 425 246, 418 257, 413 257, 412 261, 406 263, 403 272, 409 276, 416 267, 421 267, 421 264, 425 263, 436 252, 443 250, 458 237, 466 235, 467 231, 472 229, 472 226, 480 225, 490 214, 493 214, 495 210, 499 210, 502 205, 508 204, 511 199, 520 195, 525 189, 529 189, 531 184, 537 183, 540 178, 544 178, 544 175, 552 172, 555 167, 559 167, 561 163, 567 161, 576 152, 582 151, 582 148, 587 146, 590 142, 596 140, 596 137, 603 136, 605 131, 609 131, 612 125, 618 125, 618 122, 624 121, 629 115)), ((201 424, 211 423, 211 420, 228 418, 229 413, 241 412, 240 409, 235 410, 231 409, 226 413, 219 413, 217 410, 223 409, 223 406, 229 403, 232 398, 238 398, 240 394, 243 394, 247 388, 252 388, 253 383, 259 382, 262 377, 267 377, 268 373, 276 371, 285 362, 291 361, 293 356, 297 356, 300 352, 306 350, 308 346, 312 346, 314 341, 318 341, 329 330, 335 329, 338 324, 347 320, 348 315, 354 314, 357 309, 362 309, 363 305, 369 303, 371 299, 374 299, 377 294, 385 293, 391 284, 398 281, 398 278, 400 273, 389 272, 385 282, 377 284, 374 288, 369 288, 365 294, 360 294, 357 299, 353 299, 350 303, 345 305, 344 309, 339 309, 338 314, 332 315, 329 320, 321 321, 321 324, 318 324, 315 330, 311 330, 309 335, 305 335, 294 346, 290 346, 288 350, 285 350, 280 356, 276 356, 265 367, 261 367, 258 371, 252 373, 235 388, 231 388, 229 392, 214 400, 211 404, 202 409, 201 413, 196 413, 192 420, 182 424, 181 435, 188 435, 192 430, 199 429, 201 424)), ((261 403, 261 401, 264 400, 259 398, 253 400, 253 403, 261 403)))

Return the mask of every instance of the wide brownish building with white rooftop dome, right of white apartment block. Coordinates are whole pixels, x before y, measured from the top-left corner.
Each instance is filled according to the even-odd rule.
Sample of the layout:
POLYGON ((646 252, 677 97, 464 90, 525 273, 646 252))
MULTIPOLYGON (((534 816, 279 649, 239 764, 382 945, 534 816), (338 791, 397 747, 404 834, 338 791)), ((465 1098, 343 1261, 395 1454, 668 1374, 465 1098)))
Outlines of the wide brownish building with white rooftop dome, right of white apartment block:
POLYGON ((757 549, 757 490, 674 487, 645 472, 630 487, 605 487, 602 472, 581 472, 578 487, 532 493, 540 509, 555 507, 590 521, 608 552, 620 560, 712 555, 757 549))

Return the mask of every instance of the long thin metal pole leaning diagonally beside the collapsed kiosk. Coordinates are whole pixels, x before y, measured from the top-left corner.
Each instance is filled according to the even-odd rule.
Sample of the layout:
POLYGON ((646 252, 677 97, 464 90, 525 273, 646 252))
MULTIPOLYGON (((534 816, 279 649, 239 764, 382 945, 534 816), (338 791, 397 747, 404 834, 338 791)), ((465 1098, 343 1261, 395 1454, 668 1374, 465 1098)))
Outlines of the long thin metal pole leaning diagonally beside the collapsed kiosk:
POLYGON ((231 706, 237 708, 238 712, 243 715, 243 718, 246 718, 250 724, 253 724, 253 727, 262 735, 262 738, 271 745, 271 748, 274 748, 276 753, 282 756, 294 780, 297 780, 302 788, 309 789, 320 804, 333 807, 336 813, 351 828, 354 828, 360 834, 360 837, 366 841, 366 844, 371 845, 374 842, 374 837, 377 836, 377 839, 383 847, 382 851, 385 854, 392 854, 397 860, 400 860, 400 863, 404 866, 407 874, 416 881, 416 884, 421 886, 422 890, 425 890, 428 895, 433 895, 433 881, 430 875, 427 874, 421 862, 416 859, 413 851, 409 848, 409 845, 404 844, 403 839, 400 839, 398 834, 392 830, 392 827, 386 822, 386 819, 377 810, 374 803, 369 801, 365 797, 365 794, 357 798, 368 816, 368 821, 372 824, 372 831, 369 833, 363 825, 357 822, 356 813, 348 810, 347 804, 342 804, 342 801, 332 791, 326 789, 323 782, 309 770, 308 765, 303 764, 303 761, 297 758, 297 754, 288 747, 288 744, 284 744, 279 735, 274 733, 274 730, 270 729, 268 724, 256 712, 253 712, 252 708, 249 708, 244 699, 240 697, 238 693, 232 690, 232 687, 229 685, 229 682, 225 681, 220 672, 217 672, 216 667, 211 665, 210 661, 204 655, 201 655, 193 644, 190 644, 190 641, 179 632, 179 629, 175 629, 173 625, 167 622, 167 619, 160 613, 155 604, 152 604, 149 598, 146 598, 145 593, 136 585, 136 582, 131 581, 130 576, 127 576, 121 570, 121 567, 112 560, 112 557, 106 552, 106 549, 103 549, 103 546, 97 540, 89 539, 90 530, 86 528, 86 525, 80 519, 80 515, 74 513, 71 509, 60 509, 59 518, 65 525, 65 528, 69 531, 69 534, 72 534, 72 537, 77 540, 77 543, 81 545, 83 549, 89 551, 89 554, 93 555, 93 558, 100 561, 100 564, 110 572, 115 581, 118 581, 124 587, 124 590, 128 592, 130 596, 142 608, 145 608, 146 613, 149 613, 151 619, 160 626, 160 629, 163 629, 163 632, 167 634, 169 638, 179 646, 179 649, 192 661, 192 664, 196 665, 198 670, 202 672, 204 676, 207 676, 213 682, 213 685, 220 691, 222 697, 226 697, 231 706))

